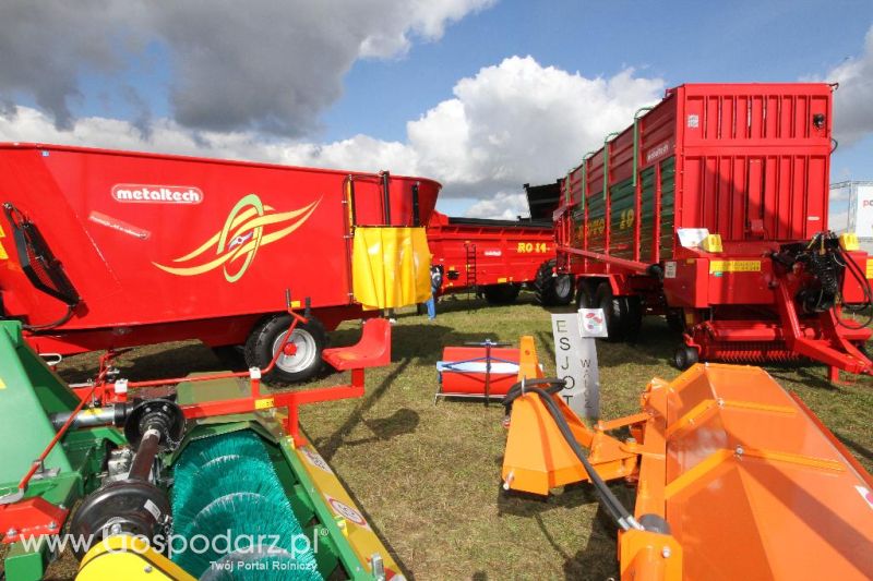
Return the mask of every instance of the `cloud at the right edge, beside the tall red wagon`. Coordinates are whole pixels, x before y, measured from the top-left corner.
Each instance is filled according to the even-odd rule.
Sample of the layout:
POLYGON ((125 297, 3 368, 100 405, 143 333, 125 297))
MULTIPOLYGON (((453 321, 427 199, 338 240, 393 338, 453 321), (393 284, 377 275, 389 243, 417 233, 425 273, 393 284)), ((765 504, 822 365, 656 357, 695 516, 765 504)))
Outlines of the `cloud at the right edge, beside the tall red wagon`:
POLYGON ((863 52, 832 69, 825 80, 839 83, 834 93, 834 135, 840 144, 850 145, 873 132, 873 27, 863 52))

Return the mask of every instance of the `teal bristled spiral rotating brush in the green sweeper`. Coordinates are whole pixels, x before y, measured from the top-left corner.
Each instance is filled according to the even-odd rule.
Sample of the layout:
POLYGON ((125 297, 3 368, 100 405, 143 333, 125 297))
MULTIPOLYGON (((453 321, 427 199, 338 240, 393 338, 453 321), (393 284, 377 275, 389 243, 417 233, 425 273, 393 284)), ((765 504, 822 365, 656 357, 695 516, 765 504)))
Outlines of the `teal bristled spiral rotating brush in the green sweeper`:
POLYGON ((174 534, 187 541, 172 560, 195 577, 322 579, 312 538, 249 431, 189 444, 175 468, 172 513, 174 534))

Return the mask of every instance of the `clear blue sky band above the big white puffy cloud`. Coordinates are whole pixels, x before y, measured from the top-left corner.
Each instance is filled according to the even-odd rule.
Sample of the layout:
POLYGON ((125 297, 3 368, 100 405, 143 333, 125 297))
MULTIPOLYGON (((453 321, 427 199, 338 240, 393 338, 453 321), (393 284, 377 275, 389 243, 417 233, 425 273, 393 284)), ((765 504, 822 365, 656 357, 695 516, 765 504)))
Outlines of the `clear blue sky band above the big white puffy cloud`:
POLYGON ((858 55, 871 24, 869 0, 504 1, 406 58, 356 62, 324 116, 325 138, 403 138, 406 121, 450 98, 458 78, 513 55, 588 77, 633 66, 668 85, 797 81, 858 55))

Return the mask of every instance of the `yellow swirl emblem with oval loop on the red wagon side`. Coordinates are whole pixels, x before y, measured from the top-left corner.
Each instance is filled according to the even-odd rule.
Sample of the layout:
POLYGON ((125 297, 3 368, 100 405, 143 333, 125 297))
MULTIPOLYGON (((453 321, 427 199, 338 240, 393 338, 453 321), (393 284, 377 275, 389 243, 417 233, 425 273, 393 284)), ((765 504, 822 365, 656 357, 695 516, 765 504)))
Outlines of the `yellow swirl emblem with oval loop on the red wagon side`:
POLYGON ((152 264, 180 277, 202 275, 220 267, 225 280, 236 282, 249 269, 261 246, 300 228, 320 202, 321 198, 300 209, 276 213, 275 208, 264 205, 258 194, 249 194, 237 202, 222 230, 184 256, 174 258, 174 266, 152 264))

